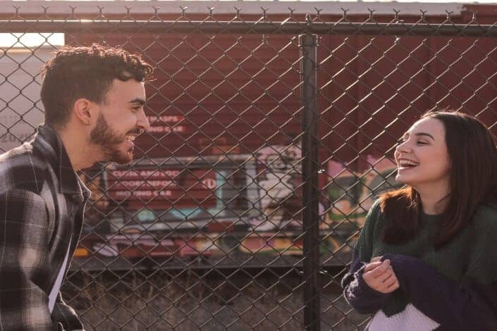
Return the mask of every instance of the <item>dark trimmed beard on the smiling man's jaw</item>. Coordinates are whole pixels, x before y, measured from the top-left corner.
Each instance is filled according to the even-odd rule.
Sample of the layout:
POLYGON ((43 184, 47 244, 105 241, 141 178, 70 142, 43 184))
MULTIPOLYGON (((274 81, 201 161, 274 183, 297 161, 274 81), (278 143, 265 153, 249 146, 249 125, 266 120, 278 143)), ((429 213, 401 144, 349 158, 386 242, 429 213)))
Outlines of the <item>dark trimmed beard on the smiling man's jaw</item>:
POLYGON ((102 113, 97 118, 97 125, 90 132, 90 144, 96 144, 102 148, 105 160, 119 164, 133 161, 133 150, 123 152, 119 145, 125 142, 125 135, 118 135, 104 118, 102 113))

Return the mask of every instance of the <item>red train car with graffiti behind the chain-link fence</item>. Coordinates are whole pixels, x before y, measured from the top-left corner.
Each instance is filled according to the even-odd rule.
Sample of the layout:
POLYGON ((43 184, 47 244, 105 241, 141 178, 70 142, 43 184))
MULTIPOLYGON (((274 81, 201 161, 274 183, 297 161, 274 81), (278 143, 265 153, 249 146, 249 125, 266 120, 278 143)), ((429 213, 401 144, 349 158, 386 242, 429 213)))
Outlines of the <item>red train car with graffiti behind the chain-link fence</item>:
MULTIPOLYGON (((211 20, 232 20, 235 11, 220 6, 221 13, 211 20)), ((303 20, 306 12, 314 12, 313 6, 298 4, 294 18, 303 20)), ((330 14, 338 13, 332 11, 338 4, 323 6, 329 11, 325 8, 320 20, 343 19, 343 12, 330 14)), ((369 19, 360 4, 350 6, 348 20, 369 19)), ((374 21, 393 20, 391 4, 372 6, 378 9, 374 21)), ((416 6, 403 5, 397 19, 419 22, 416 6)), ((447 6, 454 11, 453 23, 469 23, 474 11, 481 24, 497 19, 497 6, 426 6, 431 13, 424 21, 432 24, 446 20, 447 6)), ((266 20, 288 18, 286 9, 277 10, 266 20)), ((106 16, 122 17, 116 11, 106 16)), ((150 12, 140 8, 133 17, 148 19, 150 12)), ((188 16, 205 17, 206 13, 188 16)), ((174 20, 178 15, 159 13, 156 18, 174 20)), ((260 15, 252 8, 239 18, 257 20, 260 15)), ((66 44, 92 42, 138 52, 156 70, 146 85, 151 129, 136 141, 137 161, 101 165, 82 175, 94 194, 79 256, 302 254, 298 37, 152 34, 146 27, 123 34, 118 25, 99 35, 65 35, 66 44)), ((357 231, 374 196, 395 187, 393 146, 420 114, 434 107, 455 108, 478 115, 493 127, 496 49, 497 39, 464 33, 319 36, 324 256, 341 249, 357 231)), ((0 65, 2 60, 11 61, 0 56, 0 65)), ((12 92, 16 99, 16 90, 12 92)), ((16 117, 5 102, 0 104, 0 116, 2 112, 16 117)), ((11 131, 4 131, 0 135, 10 137, 11 131)))

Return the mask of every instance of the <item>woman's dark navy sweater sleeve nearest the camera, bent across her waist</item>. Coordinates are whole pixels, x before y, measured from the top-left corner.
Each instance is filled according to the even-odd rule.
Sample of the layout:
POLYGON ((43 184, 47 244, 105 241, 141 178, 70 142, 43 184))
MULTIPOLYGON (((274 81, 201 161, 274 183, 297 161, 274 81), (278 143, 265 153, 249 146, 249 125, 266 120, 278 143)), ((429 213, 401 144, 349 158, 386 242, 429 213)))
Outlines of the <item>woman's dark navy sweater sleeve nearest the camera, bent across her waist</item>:
MULTIPOLYGON (((497 330, 495 309, 474 284, 453 282, 417 258, 385 254, 382 260, 387 258, 400 289, 429 318, 448 330, 497 330)), ((487 288, 493 297, 496 289, 487 288)))

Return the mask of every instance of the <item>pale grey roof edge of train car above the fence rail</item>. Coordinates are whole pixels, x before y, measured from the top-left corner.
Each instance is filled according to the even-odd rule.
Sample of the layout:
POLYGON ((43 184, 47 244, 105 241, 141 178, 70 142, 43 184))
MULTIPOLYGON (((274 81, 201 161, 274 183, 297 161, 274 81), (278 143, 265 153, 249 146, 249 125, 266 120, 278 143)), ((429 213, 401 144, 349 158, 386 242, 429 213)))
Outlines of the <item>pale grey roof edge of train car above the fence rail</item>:
MULTIPOLYGON (((470 2, 470 1, 468 1, 470 2)), ((481 11, 478 4, 462 3, 408 3, 408 2, 368 2, 367 5, 361 1, 16 1, 0 0, 0 13, 13 15, 18 12, 20 15, 46 12, 48 15, 70 15, 71 13, 95 14, 102 11, 106 15, 119 14, 176 14, 182 13, 183 8, 187 8, 186 13, 208 13, 213 8, 216 14, 233 14, 236 9, 240 9, 243 14, 262 14, 262 8, 267 9, 269 15, 288 14, 292 8, 295 14, 315 13, 319 8, 324 15, 340 15, 343 9, 349 15, 368 14, 369 10, 376 15, 392 15, 394 9, 403 15, 419 16, 421 11, 426 11, 429 15, 446 15, 447 12, 460 15, 462 11, 481 11), (156 10, 157 8, 157 10, 156 10), (474 9, 476 8, 476 9, 474 9)), ((488 6, 488 4, 486 5, 488 6)))

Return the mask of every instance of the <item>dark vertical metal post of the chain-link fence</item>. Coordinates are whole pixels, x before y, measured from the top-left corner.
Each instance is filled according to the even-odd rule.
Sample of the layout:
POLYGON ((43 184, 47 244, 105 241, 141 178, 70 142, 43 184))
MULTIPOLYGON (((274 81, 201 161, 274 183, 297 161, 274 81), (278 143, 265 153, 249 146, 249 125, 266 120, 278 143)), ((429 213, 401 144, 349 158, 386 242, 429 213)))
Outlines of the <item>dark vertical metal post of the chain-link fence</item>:
POLYGON ((302 73, 302 180, 305 330, 320 330, 317 36, 299 36, 302 73))

